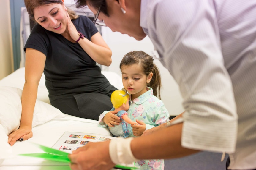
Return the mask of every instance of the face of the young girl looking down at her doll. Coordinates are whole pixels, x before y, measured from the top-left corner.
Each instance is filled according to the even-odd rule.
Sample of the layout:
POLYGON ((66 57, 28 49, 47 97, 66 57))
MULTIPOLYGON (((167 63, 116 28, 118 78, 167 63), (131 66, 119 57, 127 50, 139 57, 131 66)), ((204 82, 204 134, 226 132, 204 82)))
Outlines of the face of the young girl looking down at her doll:
POLYGON ((122 81, 125 90, 132 95, 132 100, 147 91, 147 81, 150 81, 152 74, 146 76, 139 64, 121 66, 122 81))

